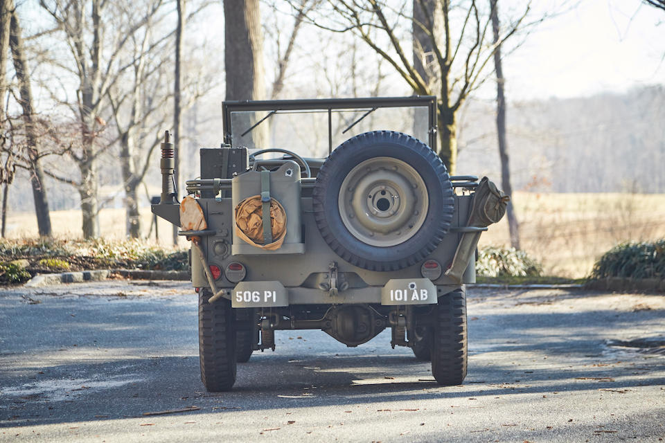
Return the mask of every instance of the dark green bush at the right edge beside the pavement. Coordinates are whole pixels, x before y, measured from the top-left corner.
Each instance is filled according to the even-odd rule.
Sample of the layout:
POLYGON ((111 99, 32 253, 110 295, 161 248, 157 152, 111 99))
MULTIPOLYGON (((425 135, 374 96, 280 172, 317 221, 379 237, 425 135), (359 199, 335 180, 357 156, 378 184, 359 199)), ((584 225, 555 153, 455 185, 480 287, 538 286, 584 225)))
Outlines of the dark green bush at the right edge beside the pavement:
POLYGON ((594 264, 591 278, 664 278, 665 239, 623 243, 603 254, 594 264))

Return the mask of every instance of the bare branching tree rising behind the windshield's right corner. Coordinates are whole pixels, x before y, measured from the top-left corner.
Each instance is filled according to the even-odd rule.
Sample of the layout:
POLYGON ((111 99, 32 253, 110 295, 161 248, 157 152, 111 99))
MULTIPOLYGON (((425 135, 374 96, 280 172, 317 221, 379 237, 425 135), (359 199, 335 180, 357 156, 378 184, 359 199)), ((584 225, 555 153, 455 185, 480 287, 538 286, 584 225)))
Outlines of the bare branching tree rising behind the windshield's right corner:
MULTIPOLYGON (((486 80, 485 68, 492 60, 497 45, 506 42, 524 26, 529 5, 524 6, 522 13, 510 21, 497 42, 488 41, 491 25, 489 9, 482 8, 475 0, 463 1, 455 6, 450 0, 415 0, 413 6, 420 8, 422 15, 414 16, 414 11, 409 11, 404 3, 400 8, 393 8, 381 0, 328 0, 327 11, 308 17, 320 28, 355 33, 393 66, 414 93, 438 96, 438 154, 448 170, 454 173, 457 162, 457 112, 466 98, 486 80), (443 24, 441 31, 436 20, 438 15, 443 24), (407 25, 419 28, 429 39, 432 76, 437 78, 434 84, 423 78, 402 46, 400 30, 407 25), (371 29, 379 30, 380 35, 373 35, 371 29)), ((424 37, 417 39, 425 41, 424 37)), ((429 47, 425 45, 425 48, 429 47)))

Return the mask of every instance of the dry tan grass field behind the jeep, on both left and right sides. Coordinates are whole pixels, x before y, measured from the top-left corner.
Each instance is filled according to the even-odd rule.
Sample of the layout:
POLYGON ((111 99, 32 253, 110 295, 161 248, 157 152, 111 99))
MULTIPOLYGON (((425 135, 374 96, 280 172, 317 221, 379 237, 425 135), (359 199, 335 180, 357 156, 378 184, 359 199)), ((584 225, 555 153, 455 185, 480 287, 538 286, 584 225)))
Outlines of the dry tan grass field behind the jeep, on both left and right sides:
MULTIPOLYGON (((515 192, 514 202, 521 221, 522 248, 542 262, 544 273, 549 275, 583 278, 594 262, 618 243, 665 238, 665 195, 515 192)), ((150 208, 143 208, 141 217, 143 232, 148 233, 150 208)), ((56 237, 80 237, 78 210, 52 211, 51 220, 56 237)), ((159 242, 170 245, 171 225, 162 219, 158 224, 159 242)), ((125 211, 102 210, 100 228, 107 239, 124 238, 125 211)), ((32 213, 8 217, 8 237, 34 237, 36 232, 32 213)), ((180 242, 186 246, 184 239, 180 242)), ((480 242, 481 247, 508 245, 505 217, 490 226, 480 242)))

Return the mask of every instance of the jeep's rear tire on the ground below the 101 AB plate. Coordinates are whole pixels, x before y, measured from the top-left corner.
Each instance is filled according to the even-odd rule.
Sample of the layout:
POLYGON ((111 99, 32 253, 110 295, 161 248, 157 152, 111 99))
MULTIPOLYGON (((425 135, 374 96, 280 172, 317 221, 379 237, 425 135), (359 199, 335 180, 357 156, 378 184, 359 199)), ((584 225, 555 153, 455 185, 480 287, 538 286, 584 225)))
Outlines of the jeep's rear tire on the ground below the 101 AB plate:
POLYGON ((456 289, 438 298, 430 347, 432 375, 443 386, 455 386, 466 377, 468 359, 466 294, 456 289))

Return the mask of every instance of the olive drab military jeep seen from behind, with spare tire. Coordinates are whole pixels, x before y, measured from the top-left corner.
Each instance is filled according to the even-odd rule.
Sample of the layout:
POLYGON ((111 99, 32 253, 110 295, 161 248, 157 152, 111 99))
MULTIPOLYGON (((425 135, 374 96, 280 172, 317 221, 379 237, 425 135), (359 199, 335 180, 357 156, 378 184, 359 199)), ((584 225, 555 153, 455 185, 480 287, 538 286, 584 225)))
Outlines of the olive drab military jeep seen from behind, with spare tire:
POLYGON ((224 143, 200 150, 201 176, 180 202, 166 134, 152 206, 191 242, 206 389, 231 389, 236 363, 274 350, 283 329, 321 329, 353 347, 390 328, 391 346, 432 361, 438 383, 461 383, 464 284, 508 197, 486 178, 448 175, 435 153, 436 98, 222 110, 224 143))

